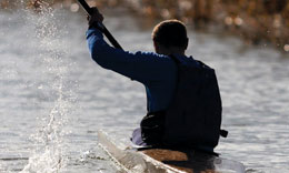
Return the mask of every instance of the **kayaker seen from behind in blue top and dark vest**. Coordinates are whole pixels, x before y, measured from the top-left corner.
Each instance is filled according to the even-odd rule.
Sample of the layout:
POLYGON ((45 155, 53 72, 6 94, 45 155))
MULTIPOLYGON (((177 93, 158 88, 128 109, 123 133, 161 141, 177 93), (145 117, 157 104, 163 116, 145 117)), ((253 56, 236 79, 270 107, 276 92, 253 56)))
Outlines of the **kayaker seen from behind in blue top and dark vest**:
MULTIPOLYGON (((212 109, 212 111, 218 112, 218 118, 216 116, 218 120, 216 119, 216 123, 215 123, 213 130, 210 129, 208 130, 208 133, 205 132, 208 128, 203 125, 203 121, 195 121, 191 115, 187 115, 186 113, 182 114, 183 118, 181 118, 181 114, 172 115, 172 123, 175 119, 177 121, 180 119, 189 120, 189 122, 185 123, 182 123, 183 120, 178 123, 176 121, 177 128, 175 124, 171 125, 171 122, 165 121, 168 109, 173 111, 176 106, 179 108, 177 104, 188 104, 187 101, 183 103, 176 102, 175 108, 171 108, 173 98, 176 98, 178 82, 180 82, 180 77, 178 77, 180 74, 178 64, 188 64, 189 67, 196 67, 199 69, 206 67, 200 61, 196 61, 192 57, 186 55, 189 42, 186 26, 179 20, 166 20, 160 22, 152 31, 152 41, 156 52, 138 51, 132 53, 114 49, 103 40, 102 33, 97 27, 97 22, 103 21, 103 16, 97 8, 93 8, 93 14, 88 20, 89 30, 87 31, 87 40, 92 59, 102 68, 112 70, 130 78, 131 80, 138 81, 146 88, 148 114, 143 118, 141 128, 133 131, 132 142, 142 146, 176 144, 192 145, 193 147, 213 151, 213 147, 218 144, 219 138, 215 138, 212 143, 207 142, 207 139, 210 139, 210 135, 217 133, 219 136, 221 103, 218 84, 218 91, 216 91, 216 93, 217 100, 219 100, 218 103, 212 104, 213 106, 218 106, 217 111, 215 111, 213 108, 207 108, 207 110, 212 109), (201 130, 196 130, 195 126, 198 125, 201 126, 201 130), (170 126, 173 128, 172 131, 168 131, 170 126), (180 128, 185 129, 181 130, 180 128), (165 132, 165 129, 167 133, 165 132), (191 131, 195 132, 191 133, 191 131), (202 134, 206 135, 205 140, 202 136, 198 136, 199 131, 202 131, 202 134)), ((207 70, 213 71, 209 67, 207 67, 207 70)), ((188 93, 188 95, 190 95, 190 93, 188 93)), ((195 98, 198 99, 197 94, 195 98)), ((200 103, 202 102, 200 101, 200 103)), ((195 110, 192 111, 200 111, 200 106, 193 108, 195 110)), ((207 121, 209 122, 215 120, 211 118, 207 121)))

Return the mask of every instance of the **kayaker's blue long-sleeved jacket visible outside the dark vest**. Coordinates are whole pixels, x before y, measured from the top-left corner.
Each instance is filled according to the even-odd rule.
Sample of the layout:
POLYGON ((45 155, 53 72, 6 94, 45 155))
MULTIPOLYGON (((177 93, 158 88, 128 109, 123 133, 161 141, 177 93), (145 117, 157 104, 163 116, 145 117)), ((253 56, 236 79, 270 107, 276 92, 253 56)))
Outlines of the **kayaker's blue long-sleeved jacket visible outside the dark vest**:
MULTIPOLYGON (((153 52, 128 52, 110 47, 98 29, 87 31, 92 59, 102 68, 139 81, 146 86, 148 111, 166 110, 175 94, 177 65, 175 61, 153 52)), ((190 57, 175 54, 182 63, 196 63, 190 57)))

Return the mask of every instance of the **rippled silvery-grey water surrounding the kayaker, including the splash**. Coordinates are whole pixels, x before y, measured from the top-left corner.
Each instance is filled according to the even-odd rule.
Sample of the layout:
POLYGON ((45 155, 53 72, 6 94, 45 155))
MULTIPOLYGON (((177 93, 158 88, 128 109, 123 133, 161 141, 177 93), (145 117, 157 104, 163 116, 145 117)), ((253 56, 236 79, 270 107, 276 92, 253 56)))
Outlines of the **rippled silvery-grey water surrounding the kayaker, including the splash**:
MULTIPOLYGON (((106 14, 126 50, 152 51, 146 21, 106 14)), ((83 14, 0 11, 0 172, 117 172, 97 131, 128 141, 146 113, 144 88, 90 59, 83 14)), ((219 79, 230 133, 217 152, 247 172, 289 172, 288 55, 227 35, 189 38, 188 54, 219 79)))

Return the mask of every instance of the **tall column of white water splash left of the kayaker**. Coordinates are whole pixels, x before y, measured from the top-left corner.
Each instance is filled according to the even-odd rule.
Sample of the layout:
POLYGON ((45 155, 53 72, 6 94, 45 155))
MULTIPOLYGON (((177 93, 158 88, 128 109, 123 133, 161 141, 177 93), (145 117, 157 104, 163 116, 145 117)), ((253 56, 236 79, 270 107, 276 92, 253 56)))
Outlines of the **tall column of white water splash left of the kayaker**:
POLYGON ((47 109, 50 111, 39 116, 42 128, 31 135, 34 149, 21 173, 58 173, 67 164, 64 135, 68 132, 64 126, 73 104, 73 93, 66 80, 69 63, 63 57, 68 52, 60 40, 62 33, 54 17, 56 10, 43 3, 37 14, 28 13, 29 24, 34 26, 34 37, 39 41, 34 47, 41 50, 37 61, 44 67, 42 75, 46 78, 37 88, 48 96, 47 109))

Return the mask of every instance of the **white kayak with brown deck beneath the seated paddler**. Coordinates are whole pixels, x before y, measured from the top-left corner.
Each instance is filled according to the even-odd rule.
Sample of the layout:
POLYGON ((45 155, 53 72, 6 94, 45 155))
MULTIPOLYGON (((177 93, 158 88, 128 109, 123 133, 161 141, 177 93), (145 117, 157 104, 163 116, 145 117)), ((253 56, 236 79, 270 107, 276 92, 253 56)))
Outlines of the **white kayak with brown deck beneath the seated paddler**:
POLYGON ((99 145, 122 172, 128 173, 245 173, 243 164, 199 151, 167 149, 121 149, 103 132, 98 132, 99 145))

